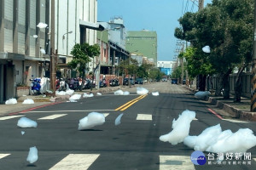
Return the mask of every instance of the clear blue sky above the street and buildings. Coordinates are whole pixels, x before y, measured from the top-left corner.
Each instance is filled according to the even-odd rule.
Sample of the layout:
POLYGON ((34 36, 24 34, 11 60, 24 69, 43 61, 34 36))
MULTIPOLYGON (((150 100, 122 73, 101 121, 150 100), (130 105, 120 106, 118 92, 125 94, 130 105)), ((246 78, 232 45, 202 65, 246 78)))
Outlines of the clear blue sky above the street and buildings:
MULTIPOLYGON (((211 2, 205 0, 205 5, 211 2)), ((114 16, 121 16, 127 31, 156 31, 158 60, 172 60, 177 20, 185 11, 197 10, 192 0, 98 0, 98 21, 108 22, 114 16)))

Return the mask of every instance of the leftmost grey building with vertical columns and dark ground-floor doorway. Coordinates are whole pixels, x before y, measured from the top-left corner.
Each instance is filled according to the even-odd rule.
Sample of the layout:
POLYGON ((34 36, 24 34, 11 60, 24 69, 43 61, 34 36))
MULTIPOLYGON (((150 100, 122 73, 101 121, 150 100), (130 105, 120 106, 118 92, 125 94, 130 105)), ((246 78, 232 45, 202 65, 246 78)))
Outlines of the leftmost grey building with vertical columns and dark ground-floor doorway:
POLYGON ((48 69, 49 27, 40 22, 49 26, 49 0, 0 0, 0 103, 48 69))

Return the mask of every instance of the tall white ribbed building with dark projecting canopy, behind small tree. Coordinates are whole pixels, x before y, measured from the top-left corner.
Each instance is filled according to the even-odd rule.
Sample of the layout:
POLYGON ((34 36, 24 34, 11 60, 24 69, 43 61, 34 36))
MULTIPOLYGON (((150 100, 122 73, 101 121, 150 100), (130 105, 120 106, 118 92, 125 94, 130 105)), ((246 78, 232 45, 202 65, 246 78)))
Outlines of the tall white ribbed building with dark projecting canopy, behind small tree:
MULTIPOLYGON (((61 76, 70 76, 67 63, 75 43, 97 43, 96 31, 104 28, 97 24, 97 0, 55 1, 55 48, 58 50, 61 76)), ((89 71, 96 68, 96 57, 87 65, 89 71)))

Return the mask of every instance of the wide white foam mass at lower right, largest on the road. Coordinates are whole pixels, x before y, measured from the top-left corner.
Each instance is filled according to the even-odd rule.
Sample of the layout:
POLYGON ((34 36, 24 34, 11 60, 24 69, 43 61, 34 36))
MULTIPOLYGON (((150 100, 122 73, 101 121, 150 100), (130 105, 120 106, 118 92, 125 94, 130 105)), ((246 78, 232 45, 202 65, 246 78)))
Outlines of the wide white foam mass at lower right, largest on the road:
POLYGON ((213 153, 246 152, 256 145, 256 137, 249 128, 241 128, 236 133, 230 129, 222 132, 220 125, 207 127, 198 136, 188 136, 183 143, 194 150, 213 153))

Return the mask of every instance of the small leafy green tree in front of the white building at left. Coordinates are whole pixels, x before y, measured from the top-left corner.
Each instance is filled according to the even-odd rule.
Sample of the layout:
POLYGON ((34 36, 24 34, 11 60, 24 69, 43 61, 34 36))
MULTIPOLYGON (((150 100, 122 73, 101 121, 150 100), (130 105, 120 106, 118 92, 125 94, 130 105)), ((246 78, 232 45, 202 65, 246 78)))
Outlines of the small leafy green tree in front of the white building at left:
POLYGON ((84 78, 86 65, 91 61, 91 58, 100 54, 100 47, 97 44, 89 45, 88 43, 76 43, 70 54, 73 55, 73 59, 67 65, 79 71, 79 75, 82 75, 84 78))

